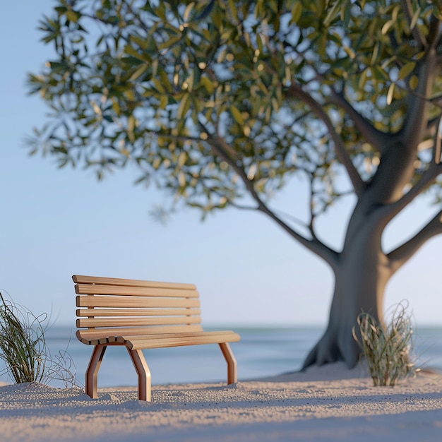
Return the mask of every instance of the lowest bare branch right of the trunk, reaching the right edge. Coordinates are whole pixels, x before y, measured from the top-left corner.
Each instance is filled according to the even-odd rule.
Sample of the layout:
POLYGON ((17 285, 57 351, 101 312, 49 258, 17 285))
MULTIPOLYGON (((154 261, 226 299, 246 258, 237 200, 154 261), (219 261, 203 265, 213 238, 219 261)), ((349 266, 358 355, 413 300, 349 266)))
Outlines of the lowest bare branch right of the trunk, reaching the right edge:
POLYGON ((417 250, 431 237, 442 233, 442 210, 440 210, 429 223, 417 234, 397 249, 390 251, 387 257, 390 261, 390 268, 395 273, 404 265, 417 250))

